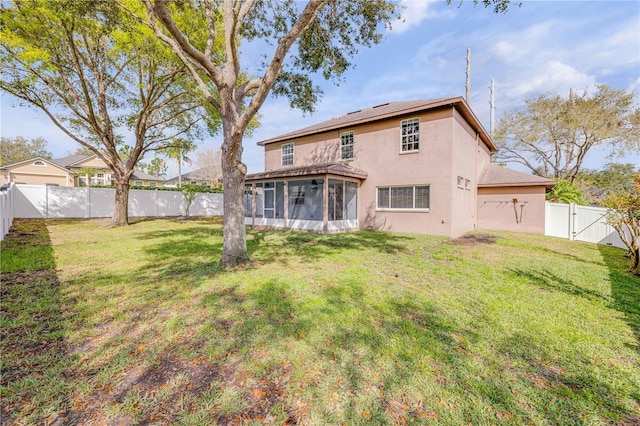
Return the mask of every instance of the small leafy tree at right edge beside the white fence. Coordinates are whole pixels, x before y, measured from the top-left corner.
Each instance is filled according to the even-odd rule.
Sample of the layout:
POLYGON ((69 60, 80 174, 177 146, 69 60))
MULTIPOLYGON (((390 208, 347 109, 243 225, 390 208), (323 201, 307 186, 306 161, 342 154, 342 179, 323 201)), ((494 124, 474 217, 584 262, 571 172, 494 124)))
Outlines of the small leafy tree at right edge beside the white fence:
POLYGON ((607 213, 607 223, 629 249, 629 271, 640 275, 640 175, 633 191, 610 194, 604 204, 611 209, 607 213))

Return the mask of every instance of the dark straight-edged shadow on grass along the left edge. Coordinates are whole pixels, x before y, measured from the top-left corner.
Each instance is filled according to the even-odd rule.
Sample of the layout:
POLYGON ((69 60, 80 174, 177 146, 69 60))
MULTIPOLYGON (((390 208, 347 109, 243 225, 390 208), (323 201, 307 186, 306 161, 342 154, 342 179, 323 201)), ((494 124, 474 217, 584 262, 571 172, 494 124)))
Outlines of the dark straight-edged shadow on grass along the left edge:
POLYGON ((1 249, 1 424, 64 410, 68 319, 46 221, 14 220, 1 249), (54 397, 51 397, 51 395, 54 397))

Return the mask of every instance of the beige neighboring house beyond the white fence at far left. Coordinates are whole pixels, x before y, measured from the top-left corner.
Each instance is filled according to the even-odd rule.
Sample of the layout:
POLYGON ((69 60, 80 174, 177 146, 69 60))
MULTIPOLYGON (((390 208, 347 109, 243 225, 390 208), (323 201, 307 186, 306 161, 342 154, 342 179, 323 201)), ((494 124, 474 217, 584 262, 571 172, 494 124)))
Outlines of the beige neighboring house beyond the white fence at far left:
MULTIPOLYGON (((111 170, 97 155, 70 155, 54 160, 37 157, 0 167, 0 184, 85 186, 87 180, 91 186, 115 184, 111 170), (93 170, 93 174, 83 174, 87 169, 93 170)), ((161 187, 162 178, 136 170, 129 183, 161 187)))

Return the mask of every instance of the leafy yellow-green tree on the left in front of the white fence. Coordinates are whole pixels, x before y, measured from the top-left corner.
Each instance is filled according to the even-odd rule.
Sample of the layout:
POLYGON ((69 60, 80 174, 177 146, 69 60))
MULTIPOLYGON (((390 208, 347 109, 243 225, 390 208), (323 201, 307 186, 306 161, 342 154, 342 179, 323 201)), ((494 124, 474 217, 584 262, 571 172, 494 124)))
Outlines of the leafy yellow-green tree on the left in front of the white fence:
POLYGON ((2 2, 0 28, 0 90, 107 164, 114 226, 128 223, 129 180, 146 152, 199 136, 205 117, 217 127, 184 64, 115 2, 2 2), (121 156, 125 135, 132 146, 121 156))

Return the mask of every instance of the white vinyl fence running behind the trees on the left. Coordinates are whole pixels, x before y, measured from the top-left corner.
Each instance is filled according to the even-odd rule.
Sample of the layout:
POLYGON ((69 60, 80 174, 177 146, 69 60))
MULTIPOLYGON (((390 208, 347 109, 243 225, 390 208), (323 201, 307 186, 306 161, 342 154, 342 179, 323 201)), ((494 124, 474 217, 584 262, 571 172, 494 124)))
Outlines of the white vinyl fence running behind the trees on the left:
MULTIPOLYGON (((113 213, 115 189, 23 185, 13 188, 16 218, 101 218, 113 213)), ((129 217, 181 216, 186 202, 181 192, 129 191, 129 217)), ((189 208, 191 216, 221 216, 222 194, 197 194, 189 208)), ((3 216, 4 218, 4 216, 3 216)))

